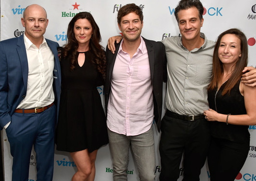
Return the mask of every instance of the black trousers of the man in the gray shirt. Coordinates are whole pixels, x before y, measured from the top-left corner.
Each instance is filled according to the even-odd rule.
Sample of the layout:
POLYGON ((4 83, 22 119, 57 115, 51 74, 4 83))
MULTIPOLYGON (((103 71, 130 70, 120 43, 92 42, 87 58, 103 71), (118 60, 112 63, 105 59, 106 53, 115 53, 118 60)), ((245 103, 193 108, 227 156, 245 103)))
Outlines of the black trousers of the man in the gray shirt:
POLYGON ((177 181, 184 153, 183 181, 199 181, 209 145, 209 122, 205 118, 186 121, 165 115, 161 122, 159 180, 177 181))

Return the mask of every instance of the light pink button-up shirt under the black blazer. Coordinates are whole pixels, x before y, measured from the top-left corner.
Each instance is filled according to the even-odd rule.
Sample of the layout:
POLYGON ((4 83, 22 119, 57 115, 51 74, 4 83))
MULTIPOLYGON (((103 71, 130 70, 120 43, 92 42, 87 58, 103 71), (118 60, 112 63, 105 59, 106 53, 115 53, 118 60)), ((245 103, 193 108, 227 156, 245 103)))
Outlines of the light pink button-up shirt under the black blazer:
POLYGON ((132 58, 122 50, 122 43, 111 77, 107 125, 115 133, 136 136, 148 131, 154 119, 149 60, 142 37, 132 58))

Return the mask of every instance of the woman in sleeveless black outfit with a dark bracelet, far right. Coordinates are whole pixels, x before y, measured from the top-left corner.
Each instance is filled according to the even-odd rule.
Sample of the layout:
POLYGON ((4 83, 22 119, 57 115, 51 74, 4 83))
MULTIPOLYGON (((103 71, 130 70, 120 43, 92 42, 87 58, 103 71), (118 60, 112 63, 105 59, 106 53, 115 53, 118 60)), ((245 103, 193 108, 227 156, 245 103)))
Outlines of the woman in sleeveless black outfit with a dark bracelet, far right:
POLYGON ((248 125, 256 124, 256 87, 240 81, 247 61, 247 39, 240 30, 230 29, 219 35, 208 88, 210 109, 204 111, 211 121, 211 181, 234 181, 248 155, 248 125))

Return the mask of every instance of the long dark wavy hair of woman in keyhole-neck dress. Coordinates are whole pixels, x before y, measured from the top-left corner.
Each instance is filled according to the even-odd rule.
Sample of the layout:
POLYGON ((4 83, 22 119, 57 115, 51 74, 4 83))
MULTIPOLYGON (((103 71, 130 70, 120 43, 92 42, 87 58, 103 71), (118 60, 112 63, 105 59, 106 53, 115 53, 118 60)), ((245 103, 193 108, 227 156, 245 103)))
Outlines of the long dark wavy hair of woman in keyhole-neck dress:
POLYGON ((79 12, 76 14, 68 25, 67 32, 67 44, 64 45, 61 51, 61 58, 66 58, 70 56, 70 69, 75 68, 77 63, 77 48, 78 41, 74 37, 74 23, 79 19, 87 19, 92 25, 92 37, 89 42, 89 49, 93 54, 92 63, 96 66, 98 72, 102 75, 102 78, 106 77, 106 55, 104 47, 99 43, 101 42, 101 35, 97 23, 95 22, 93 16, 89 12, 79 12))

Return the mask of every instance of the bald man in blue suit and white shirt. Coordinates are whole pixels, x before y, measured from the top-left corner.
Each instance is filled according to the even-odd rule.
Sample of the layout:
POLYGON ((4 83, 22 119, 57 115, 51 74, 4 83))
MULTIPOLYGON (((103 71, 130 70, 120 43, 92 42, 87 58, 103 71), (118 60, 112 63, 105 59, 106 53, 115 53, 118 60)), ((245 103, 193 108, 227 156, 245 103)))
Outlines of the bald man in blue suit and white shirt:
POLYGON ((48 19, 41 6, 28 6, 21 22, 24 35, 0 42, 0 129, 6 129, 10 142, 12 181, 28 180, 33 146, 37 181, 52 181, 61 89, 59 45, 43 37, 48 19))

